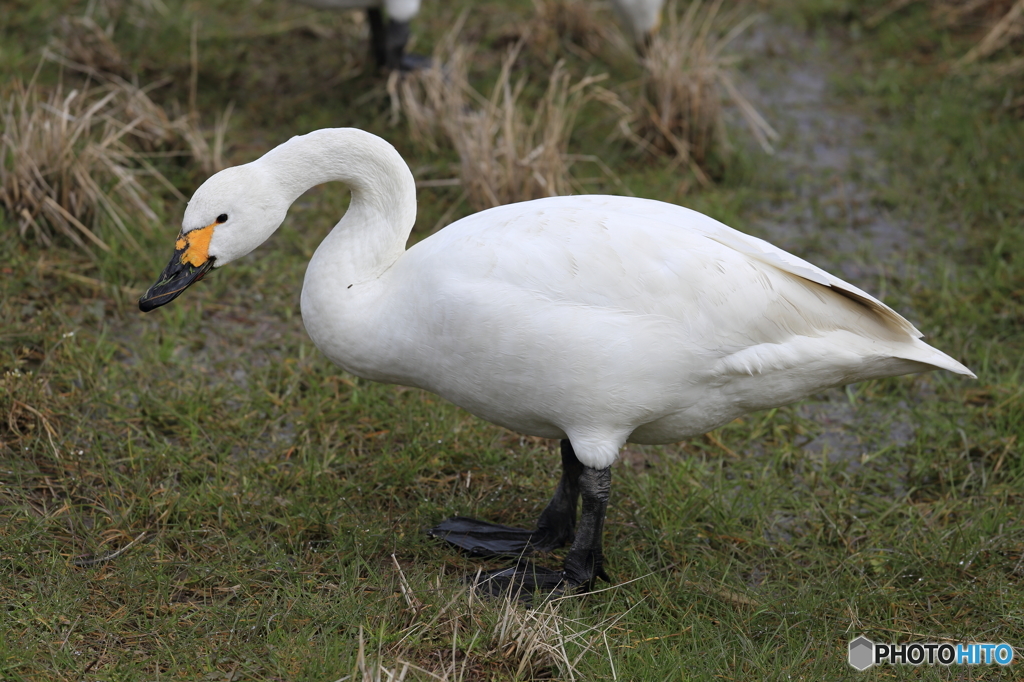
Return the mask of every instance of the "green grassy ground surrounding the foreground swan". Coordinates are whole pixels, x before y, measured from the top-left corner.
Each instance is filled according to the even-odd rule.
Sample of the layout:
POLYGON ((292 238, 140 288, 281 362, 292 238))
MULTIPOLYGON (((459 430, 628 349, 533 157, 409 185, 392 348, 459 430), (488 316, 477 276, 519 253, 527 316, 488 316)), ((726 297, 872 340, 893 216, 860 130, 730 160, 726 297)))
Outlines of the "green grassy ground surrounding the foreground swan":
MULTIPOLYGON (((846 662, 857 635, 1024 647, 1020 80, 1015 91, 950 68, 980 20, 952 31, 916 3, 869 22, 892 3, 863 4, 743 5, 763 19, 737 43, 737 78, 763 93, 776 155, 734 125, 703 186, 613 134, 616 115, 592 101, 570 152, 613 175, 580 162, 577 180, 702 210, 827 266, 978 380, 869 382, 677 445, 630 445, 605 530, 614 583, 537 609, 474 597, 465 579, 500 564, 424 529, 455 513, 531 523, 557 443, 347 376, 302 329, 305 263, 344 210, 340 187, 311 190, 255 254, 146 315, 135 299, 183 209, 171 186, 189 196, 200 164, 152 158, 171 186, 144 180, 157 220, 130 224, 137 247, 102 221, 109 251, 43 247, 0 212, 0 679, 1020 679, 1016 660, 846 662), (827 106, 807 115, 839 133, 808 132, 783 96, 783 76, 812 60, 827 106), (813 161, 837 144, 849 159, 813 161)), ((193 111, 210 133, 231 108, 228 163, 352 125, 392 141, 418 179, 458 175, 454 151, 390 121, 365 28, 285 2, 6 3, 5 92, 87 5, 112 27, 125 78, 166 80, 151 96, 168 112, 193 111)), ((534 11, 424 6, 426 51, 472 8, 461 35, 477 45, 481 91, 534 11)), ((573 78, 609 74, 602 85, 624 99, 638 87, 635 59, 610 42, 544 45, 516 71, 527 99, 559 56, 573 78)), ((60 79, 82 87, 42 66, 39 83, 60 79)), ((471 212, 443 183, 419 202, 414 240, 471 212)))

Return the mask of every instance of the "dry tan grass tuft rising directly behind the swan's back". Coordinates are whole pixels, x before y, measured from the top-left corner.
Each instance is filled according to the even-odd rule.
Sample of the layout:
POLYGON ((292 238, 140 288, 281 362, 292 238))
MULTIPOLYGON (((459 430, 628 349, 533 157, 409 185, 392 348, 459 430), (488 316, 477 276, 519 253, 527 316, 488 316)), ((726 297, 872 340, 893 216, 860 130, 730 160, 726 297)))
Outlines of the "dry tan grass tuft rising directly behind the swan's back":
POLYGON ((574 163, 601 165, 570 155, 568 144, 577 115, 605 76, 572 82, 559 61, 540 100, 525 102, 525 79, 512 78, 519 43, 484 96, 469 84, 470 53, 453 41, 449 46, 443 59, 435 54, 432 70, 392 77, 392 111, 403 116, 414 139, 458 153, 460 181, 475 210, 568 194, 577 188, 569 172, 574 163))

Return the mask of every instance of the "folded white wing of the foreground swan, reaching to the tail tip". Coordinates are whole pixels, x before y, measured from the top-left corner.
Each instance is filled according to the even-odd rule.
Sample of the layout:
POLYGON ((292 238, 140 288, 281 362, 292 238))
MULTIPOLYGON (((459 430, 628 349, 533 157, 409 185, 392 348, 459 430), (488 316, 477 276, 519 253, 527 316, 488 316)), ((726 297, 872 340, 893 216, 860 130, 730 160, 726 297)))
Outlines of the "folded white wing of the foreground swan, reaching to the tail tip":
MULTIPOLYGON (((842 338, 859 339, 850 342, 855 351, 846 344, 856 354, 969 373, 856 287, 767 242, 659 202, 563 197, 499 207, 454 223, 407 258, 410 265, 433 263, 415 267, 419 272, 443 272, 446 284, 433 285, 438 291, 466 288, 496 301, 518 292, 532 297, 535 309, 547 301, 616 311, 623 319, 674 321, 678 344, 709 361, 841 331, 849 333, 842 338)), ((517 310, 528 305, 523 298, 517 310)), ((486 306, 475 307, 487 314, 486 306)))

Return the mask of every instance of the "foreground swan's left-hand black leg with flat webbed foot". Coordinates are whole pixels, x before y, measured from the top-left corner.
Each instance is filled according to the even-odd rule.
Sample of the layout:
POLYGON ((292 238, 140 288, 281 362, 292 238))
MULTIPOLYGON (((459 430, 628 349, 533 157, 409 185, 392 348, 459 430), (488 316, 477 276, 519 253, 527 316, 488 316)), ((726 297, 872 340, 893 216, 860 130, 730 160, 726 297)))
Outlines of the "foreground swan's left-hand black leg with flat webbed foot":
POLYGON ((522 556, 550 552, 571 542, 575 530, 575 508, 580 499, 580 476, 586 469, 567 439, 562 440, 562 477, 551 502, 541 513, 536 530, 453 516, 427 532, 477 556, 522 556))

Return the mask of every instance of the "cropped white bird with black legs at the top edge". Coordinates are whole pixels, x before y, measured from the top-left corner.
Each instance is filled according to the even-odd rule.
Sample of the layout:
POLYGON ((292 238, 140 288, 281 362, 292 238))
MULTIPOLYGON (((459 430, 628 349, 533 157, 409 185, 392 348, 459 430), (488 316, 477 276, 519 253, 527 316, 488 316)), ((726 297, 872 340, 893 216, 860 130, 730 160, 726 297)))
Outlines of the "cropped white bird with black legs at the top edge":
POLYGON ((420 0, 295 0, 319 9, 365 9, 370 19, 370 40, 377 66, 384 69, 414 71, 429 66, 430 60, 407 54, 410 23, 420 11, 420 0), (387 22, 381 10, 387 12, 387 22))

